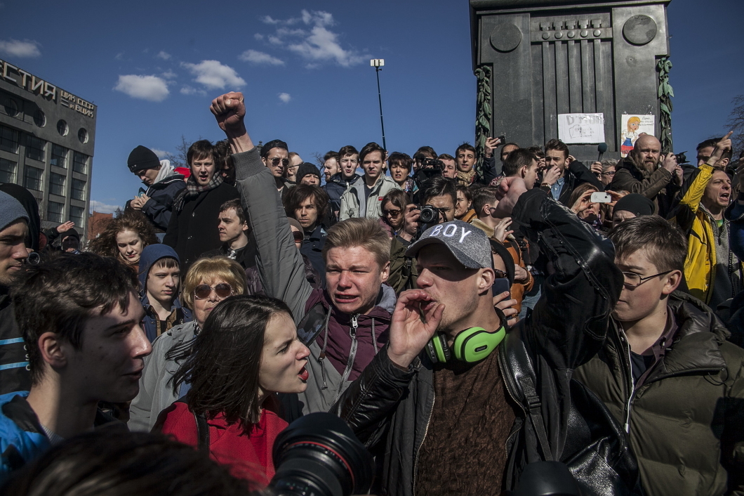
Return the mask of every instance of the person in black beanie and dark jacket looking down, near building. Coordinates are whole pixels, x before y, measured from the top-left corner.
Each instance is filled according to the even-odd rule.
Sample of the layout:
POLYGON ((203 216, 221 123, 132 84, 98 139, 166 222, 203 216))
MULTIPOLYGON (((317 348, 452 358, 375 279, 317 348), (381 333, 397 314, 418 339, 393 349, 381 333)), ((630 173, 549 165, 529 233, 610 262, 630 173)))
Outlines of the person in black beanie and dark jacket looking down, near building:
POLYGON ((173 170, 169 161, 161 162, 153 150, 142 145, 129 153, 126 165, 147 186, 147 191, 129 200, 128 206, 141 210, 158 232, 165 232, 173 200, 186 187, 184 177, 173 170))

